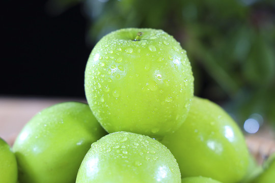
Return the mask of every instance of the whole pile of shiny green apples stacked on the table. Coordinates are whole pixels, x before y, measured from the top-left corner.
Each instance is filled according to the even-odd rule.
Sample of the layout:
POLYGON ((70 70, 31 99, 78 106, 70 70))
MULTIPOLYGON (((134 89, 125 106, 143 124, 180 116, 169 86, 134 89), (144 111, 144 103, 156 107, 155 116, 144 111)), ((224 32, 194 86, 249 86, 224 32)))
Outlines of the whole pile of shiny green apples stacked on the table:
MULTIPOLYGON (((126 28, 104 36, 87 63, 85 93, 88 104, 36 114, 12 149, 0 141, 0 182, 247 182, 241 130, 194 96, 186 51, 169 34, 126 28)), ((265 172, 251 182, 275 182, 265 172)))

